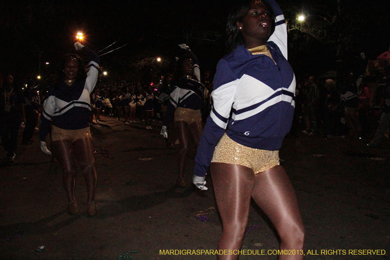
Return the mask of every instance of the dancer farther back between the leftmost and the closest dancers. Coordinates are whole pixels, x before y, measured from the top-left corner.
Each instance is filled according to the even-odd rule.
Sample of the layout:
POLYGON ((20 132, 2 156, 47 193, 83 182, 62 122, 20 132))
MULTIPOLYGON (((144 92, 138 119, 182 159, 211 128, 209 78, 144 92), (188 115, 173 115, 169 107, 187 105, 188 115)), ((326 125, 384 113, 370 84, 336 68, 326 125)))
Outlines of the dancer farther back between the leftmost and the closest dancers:
POLYGON ((189 132, 191 131, 195 143, 198 144, 203 129, 200 109, 203 105, 204 86, 199 82, 199 65, 195 55, 185 44, 179 46, 186 49, 187 54, 177 61, 178 77, 173 83, 176 89, 171 93, 161 135, 168 138, 167 125, 174 119, 176 134, 180 142, 177 162, 179 174, 176 184, 184 188, 186 186, 184 168, 188 154, 189 132))

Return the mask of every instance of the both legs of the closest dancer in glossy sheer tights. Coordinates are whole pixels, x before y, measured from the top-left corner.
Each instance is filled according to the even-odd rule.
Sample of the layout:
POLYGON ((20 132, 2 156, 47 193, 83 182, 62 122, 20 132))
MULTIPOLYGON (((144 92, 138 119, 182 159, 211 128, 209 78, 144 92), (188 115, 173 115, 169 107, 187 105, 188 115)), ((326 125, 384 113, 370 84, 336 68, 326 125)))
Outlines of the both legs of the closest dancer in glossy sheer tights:
MULTIPOLYGON (((280 237, 280 249, 303 250, 304 227, 295 192, 282 166, 254 175, 252 169, 213 162, 211 173, 222 236, 218 250, 239 250, 248 224, 251 197, 271 220, 280 237)), ((238 259, 220 255, 219 260, 238 259)), ((280 255, 278 260, 302 260, 303 255, 280 255)))

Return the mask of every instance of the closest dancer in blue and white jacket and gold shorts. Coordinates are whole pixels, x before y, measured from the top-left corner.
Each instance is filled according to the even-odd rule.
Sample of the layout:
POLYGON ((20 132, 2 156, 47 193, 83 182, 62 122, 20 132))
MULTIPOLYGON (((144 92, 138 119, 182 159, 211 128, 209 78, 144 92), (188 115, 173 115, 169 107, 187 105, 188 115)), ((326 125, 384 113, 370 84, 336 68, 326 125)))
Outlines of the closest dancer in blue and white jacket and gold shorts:
POLYGON ((280 249, 298 250, 289 259, 303 259, 304 228, 278 155, 292 124, 295 92, 283 13, 274 0, 248 1, 231 13, 227 32, 234 50, 216 69, 213 109, 198 146, 193 182, 207 189, 211 166, 223 224, 219 250, 241 248, 252 197, 278 231, 280 249))

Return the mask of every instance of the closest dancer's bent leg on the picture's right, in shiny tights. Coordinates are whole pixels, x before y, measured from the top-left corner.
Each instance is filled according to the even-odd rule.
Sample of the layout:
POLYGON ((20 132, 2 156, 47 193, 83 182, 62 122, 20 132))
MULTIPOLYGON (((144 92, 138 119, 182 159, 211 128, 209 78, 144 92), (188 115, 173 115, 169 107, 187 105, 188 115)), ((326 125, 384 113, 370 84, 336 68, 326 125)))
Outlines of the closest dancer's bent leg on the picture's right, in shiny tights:
MULTIPOLYGON (((252 197, 267 214, 280 237, 280 250, 303 250, 304 226, 294 189, 282 166, 254 177, 252 197)), ((302 260, 303 255, 280 255, 278 260, 302 260)))

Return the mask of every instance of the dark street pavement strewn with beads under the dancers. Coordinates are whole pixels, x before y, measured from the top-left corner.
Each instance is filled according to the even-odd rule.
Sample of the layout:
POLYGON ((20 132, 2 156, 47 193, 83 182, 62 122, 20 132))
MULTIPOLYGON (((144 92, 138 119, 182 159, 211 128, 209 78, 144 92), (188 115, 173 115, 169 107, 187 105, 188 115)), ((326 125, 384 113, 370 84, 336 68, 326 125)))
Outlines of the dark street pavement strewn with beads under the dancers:
MULTIPOLYGON (((40 151, 38 131, 31 145, 18 146, 13 163, 0 161, 0 259, 215 260, 222 227, 210 174, 207 191, 178 188, 179 150, 165 147, 161 122, 147 130, 142 122, 100 121, 91 127, 98 171, 95 217, 86 213, 81 172, 75 192, 81 212, 67 213, 60 165, 40 151), (203 215, 209 221, 196 218, 202 213, 209 213, 203 215), (39 246, 44 249, 36 252, 39 246)), ((284 140, 281 164, 305 225, 305 259, 389 259, 390 145, 368 148, 368 141, 307 135, 284 140)), ((191 140, 188 184, 195 153, 191 140)), ((276 260, 279 243, 270 221, 252 203, 240 260, 276 260)))

